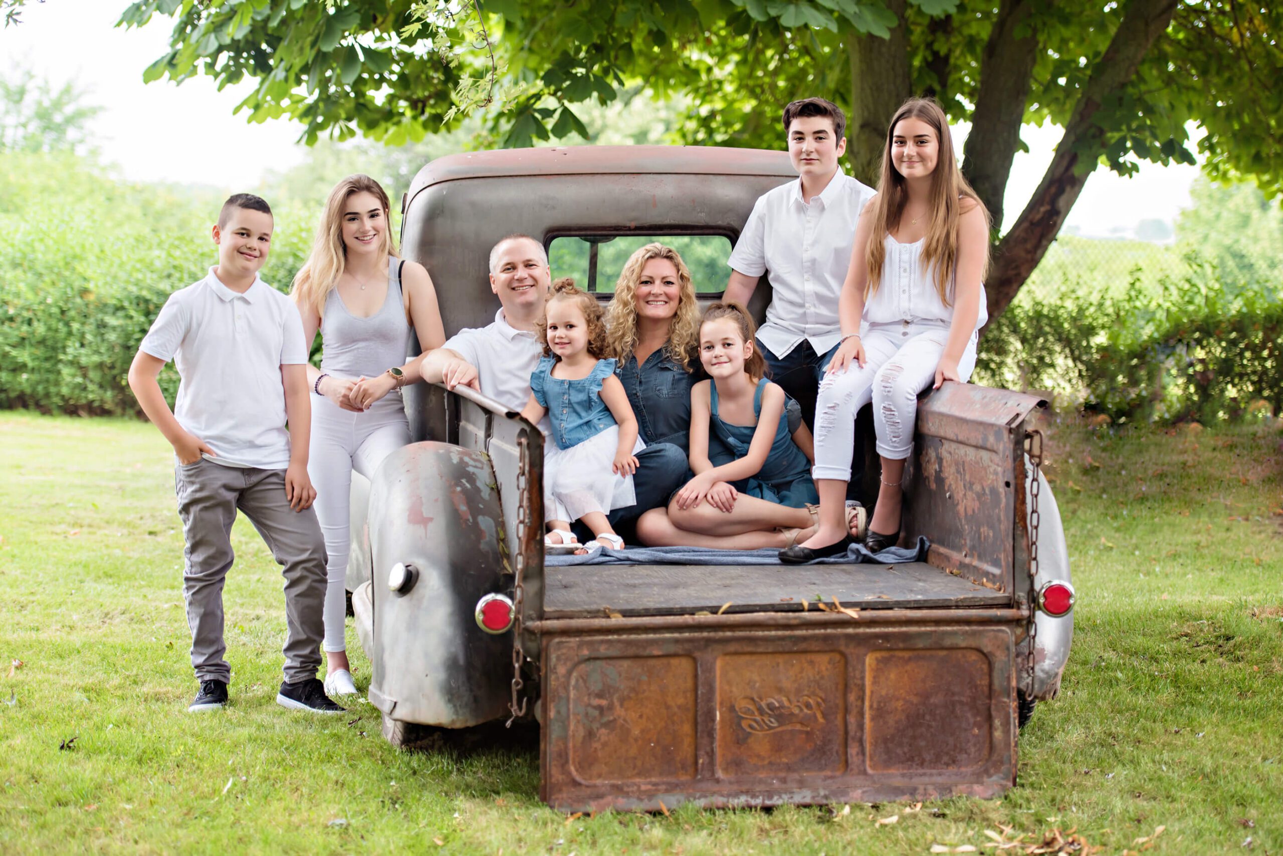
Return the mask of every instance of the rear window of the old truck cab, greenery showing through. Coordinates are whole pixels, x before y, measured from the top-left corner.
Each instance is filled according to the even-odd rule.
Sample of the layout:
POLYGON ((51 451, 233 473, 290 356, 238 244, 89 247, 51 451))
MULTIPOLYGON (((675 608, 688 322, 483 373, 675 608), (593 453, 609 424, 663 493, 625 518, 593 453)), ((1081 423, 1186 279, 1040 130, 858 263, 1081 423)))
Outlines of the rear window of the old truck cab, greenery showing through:
POLYGON ((575 277, 575 284, 609 297, 624 264, 634 251, 658 241, 681 255, 690 269, 695 293, 709 297, 726 288, 731 243, 725 235, 600 235, 563 236, 548 246, 553 278, 575 277))

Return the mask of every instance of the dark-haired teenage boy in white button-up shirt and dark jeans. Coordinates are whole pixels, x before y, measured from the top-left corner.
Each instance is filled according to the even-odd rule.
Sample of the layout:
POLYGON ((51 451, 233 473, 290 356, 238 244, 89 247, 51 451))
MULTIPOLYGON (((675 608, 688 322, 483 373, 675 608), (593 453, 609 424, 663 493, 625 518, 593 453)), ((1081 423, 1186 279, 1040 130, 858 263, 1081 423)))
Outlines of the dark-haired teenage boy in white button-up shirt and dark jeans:
MULTIPOLYGON (((727 264, 724 300, 748 305, 762 274, 771 281, 757 347, 771 379, 798 400, 807 425, 825 366, 842 338, 838 297, 851 264, 856 223, 874 190, 844 174, 847 117, 825 99, 784 108, 789 159, 798 179, 762 193, 727 264)), ((858 456, 857 456, 858 457, 858 456)))

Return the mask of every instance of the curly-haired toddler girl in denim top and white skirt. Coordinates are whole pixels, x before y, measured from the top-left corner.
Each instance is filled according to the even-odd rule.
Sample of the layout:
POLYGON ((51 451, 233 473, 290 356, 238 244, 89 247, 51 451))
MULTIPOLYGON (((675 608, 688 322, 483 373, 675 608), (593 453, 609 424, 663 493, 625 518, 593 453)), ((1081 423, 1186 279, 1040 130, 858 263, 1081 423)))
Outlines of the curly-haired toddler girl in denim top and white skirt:
POLYGON ((574 545, 572 520, 594 541, 590 552, 621 550, 624 539, 607 514, 636 502, 633 473, 645 449, 615 360, 606 351, 606 323, 597 299, 566 278, 553 283, 539 324, 544 356, 530 375, 530 401, 521 415, 538 423, 547 413, 554 445, 544 451, 544 518, 550 547, 574 545))

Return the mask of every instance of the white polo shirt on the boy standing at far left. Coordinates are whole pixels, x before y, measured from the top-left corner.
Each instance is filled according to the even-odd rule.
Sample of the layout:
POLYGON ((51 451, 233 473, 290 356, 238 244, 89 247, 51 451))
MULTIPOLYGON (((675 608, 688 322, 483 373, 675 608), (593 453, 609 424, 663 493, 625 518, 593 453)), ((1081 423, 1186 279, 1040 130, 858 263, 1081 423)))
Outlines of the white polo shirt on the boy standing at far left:
POLYGON ((140 349, 174 363, 173 415, 228 466, 285 469, 282 365, 308 361, 303 319, 286 295, 254 279, 239 295, 214 276, 169 295, 140 349))

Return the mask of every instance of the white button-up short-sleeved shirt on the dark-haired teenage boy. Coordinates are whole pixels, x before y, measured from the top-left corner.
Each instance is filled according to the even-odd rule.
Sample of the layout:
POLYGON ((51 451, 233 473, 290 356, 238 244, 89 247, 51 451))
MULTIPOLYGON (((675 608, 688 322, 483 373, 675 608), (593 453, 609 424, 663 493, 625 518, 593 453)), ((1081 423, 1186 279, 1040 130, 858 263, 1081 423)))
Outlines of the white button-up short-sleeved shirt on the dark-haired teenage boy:
POLYGON ((822 355, 842 338, 838 297, 860 211, 875 192, 839 168, 810 204, 802 200, 801 178, 757 197, 727 264, 770 278, 771 305, 757 338, 775 356, 802 340, 822 355))

